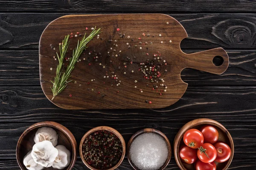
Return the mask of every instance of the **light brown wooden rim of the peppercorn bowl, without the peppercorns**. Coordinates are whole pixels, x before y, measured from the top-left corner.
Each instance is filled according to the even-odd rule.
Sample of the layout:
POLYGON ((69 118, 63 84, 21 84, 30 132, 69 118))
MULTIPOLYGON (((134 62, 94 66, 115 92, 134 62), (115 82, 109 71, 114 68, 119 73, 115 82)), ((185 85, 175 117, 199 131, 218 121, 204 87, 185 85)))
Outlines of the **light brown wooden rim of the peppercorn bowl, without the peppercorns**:
POLYGON ((115 170, 117 167, 119 167, 119 165, 122 163, 122 161, 123 161, 124 158, 125 158, 125 139, 122 137, 122 135, 121 135, 117 130, 115 130, 115 129, 112 128, 112 127, 108 127, 108 126, 94 127, 93 129, 91 129, 91 130, 89 130, 87 133, 85 133, 84 136, 82 137, 81 142, 80 142, 80 145, 79 145, 80 157, 81 157, 82 161, 84 162, 84 164, 85 164, 90 170, 100 170, 100 169, 96 169, 95 167, 90 166, 90 165, 87 163, 87 161, 85 161, 85 159, 84 159, 84 157, 83 157, 83 153, 82 153, 82 147, 83 147, 83 143, 84 143, 84 140, 86 139, 86 137, 89 136, 91 133, 96 132, 96 131, 99 131, 99 130, 108 130, 108 131, 114 133, 114 134, 119 138, 119 140, 121 141, 121 144, 122 144, 122 156, 121 156, 121 159, 119 160, 119 162, 117 162, 117 164, 116 164, 114 167, 111 167, 111 168, 109 168, 109 169, 106 169, 106 170, 115 170))

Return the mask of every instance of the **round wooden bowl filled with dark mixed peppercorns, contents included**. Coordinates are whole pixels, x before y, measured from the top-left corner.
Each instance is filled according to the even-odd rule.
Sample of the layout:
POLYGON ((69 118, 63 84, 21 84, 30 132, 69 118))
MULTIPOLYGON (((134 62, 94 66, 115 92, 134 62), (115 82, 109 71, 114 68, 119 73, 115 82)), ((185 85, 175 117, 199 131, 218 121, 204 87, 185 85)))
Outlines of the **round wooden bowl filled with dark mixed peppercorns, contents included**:
POLYGON ((112 127, 95 127, 82 137, 79 153, 90 170, 114 170, 125 157, 125 140, 112 127))

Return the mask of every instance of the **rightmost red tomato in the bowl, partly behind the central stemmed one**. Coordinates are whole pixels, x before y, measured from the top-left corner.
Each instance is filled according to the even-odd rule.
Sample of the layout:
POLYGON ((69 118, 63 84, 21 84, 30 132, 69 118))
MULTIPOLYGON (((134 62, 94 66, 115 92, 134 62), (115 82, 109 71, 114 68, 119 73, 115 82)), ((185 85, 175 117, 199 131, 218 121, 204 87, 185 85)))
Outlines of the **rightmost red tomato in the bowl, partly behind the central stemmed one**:
POLYGON ((217 157, 215 159, 216 162, 224 162, 230 158, 231 149, 227 144, 223 142, 217 142, 213 146, 215 147, 217 152, 217 157))

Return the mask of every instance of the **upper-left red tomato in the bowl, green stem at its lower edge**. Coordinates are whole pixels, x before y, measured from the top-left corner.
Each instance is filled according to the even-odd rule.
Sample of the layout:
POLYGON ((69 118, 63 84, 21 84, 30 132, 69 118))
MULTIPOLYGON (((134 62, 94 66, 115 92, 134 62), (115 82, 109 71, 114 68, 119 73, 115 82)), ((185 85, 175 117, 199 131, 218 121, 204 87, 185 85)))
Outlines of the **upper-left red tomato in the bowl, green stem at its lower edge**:
POLYGON ((189 129, 183 136, 183 142, 193 148, 197 149, 204 144, 204 136, 203 134, 197 129, 189 129))

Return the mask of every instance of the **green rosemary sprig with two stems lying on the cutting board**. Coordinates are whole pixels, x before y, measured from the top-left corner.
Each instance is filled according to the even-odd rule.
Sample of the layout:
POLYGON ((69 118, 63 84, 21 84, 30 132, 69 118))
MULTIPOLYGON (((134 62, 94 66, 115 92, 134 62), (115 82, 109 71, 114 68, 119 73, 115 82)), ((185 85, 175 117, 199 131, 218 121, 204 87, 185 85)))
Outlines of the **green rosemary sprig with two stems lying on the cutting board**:
MULTIPOLYGON (((70 62, 67 65, 66 71, 62 74, 62 76, 61 76, 61 71, 58 72, 58 74, 56 71, 56 77, 57 77, 58 84, 55 83, 56 82, 56 77, 55 77, 55 82, 52 82, 53 87, 51 88, 52 94, 53 94, 52 100, 55 98, 55 96, 57 96, 58 94, 61 93, 61 91, 64 90, 64 88, 67 86, 67 83, 72 81, 72 80, 70 80, 70 81, 67 81, 67 80, 70 78, 70 74, 73 71, 73 69, 75 68, 76 62, 79 59, 81 53, 84 51, 85 48, 87 48, 86 44, 88 42, 90 42, 90 40, 92 40, 93 37, 95 37, 99 33, 101 33, 100 28, 98 30, 96 30, 96 27, 95 27, 94 30, 90 33, 90 35, 88 37, 85 37, 86 34, 84 34, 83 39, 80 42, 78 40, 77 47, 73 50, 73 56, 70 58, 70 62)), ((65 39, 64 39, 64 41, 65 41, 65 39)), ((60 53, 64 54, 63 52, 61 52, 61 49, 60 49, 60 53)), ((57 57, 58 57, 58 54, 57 54, 57 57)), ((63 59, 62 59, 62 62, 63 62, 63 59)), ((62 66, 62 62, 61 62, 61 66, 62 66)), ((59 60, 59 65, 60 65, 60 60, 59 60)), ((57 70, 58 70, 58 67, 57 67, 57 70)))

